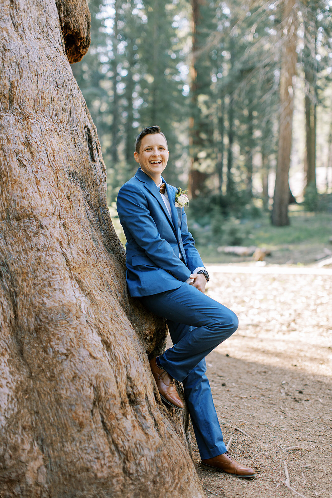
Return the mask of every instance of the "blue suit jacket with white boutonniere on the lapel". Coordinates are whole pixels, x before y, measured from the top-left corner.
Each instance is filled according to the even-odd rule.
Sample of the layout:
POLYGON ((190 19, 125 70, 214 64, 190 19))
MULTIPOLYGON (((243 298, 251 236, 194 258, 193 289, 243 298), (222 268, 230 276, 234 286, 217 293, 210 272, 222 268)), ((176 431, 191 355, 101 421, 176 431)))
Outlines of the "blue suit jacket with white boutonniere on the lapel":
POLYGON ((166 191, 172 217, 159 188, 140 169, 117 195, 116 208, 127 240, 126 280, 131 296, 176 289, 195 268, 204 266, 188 232, 184 208, 175 207, 178 189, 166 184, 166 191))

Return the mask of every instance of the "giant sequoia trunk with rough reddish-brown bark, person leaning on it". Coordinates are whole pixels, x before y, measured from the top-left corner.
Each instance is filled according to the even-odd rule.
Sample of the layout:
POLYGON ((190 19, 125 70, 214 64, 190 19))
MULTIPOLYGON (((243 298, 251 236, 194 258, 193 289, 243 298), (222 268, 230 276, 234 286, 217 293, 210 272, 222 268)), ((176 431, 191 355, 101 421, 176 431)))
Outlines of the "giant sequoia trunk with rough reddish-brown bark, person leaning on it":
POLYGON ((85 0, 1 2, 0 496, 201 497, 188 416, 149 371, 165 324, 128 298, 68 62, 89 25, 85 0))

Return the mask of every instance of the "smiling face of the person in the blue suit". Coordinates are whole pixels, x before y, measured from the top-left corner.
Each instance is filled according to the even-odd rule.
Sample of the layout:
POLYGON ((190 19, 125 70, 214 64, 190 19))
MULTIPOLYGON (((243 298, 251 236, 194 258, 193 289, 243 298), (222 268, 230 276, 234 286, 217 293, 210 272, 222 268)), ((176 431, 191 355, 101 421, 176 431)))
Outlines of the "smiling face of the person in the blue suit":
POLYGON ((142 138, 139 152, 134 152, 135 161, 156 185, 160 183, 160 175, 168 161, 167 143, 163 135, 154 133, 142 138))

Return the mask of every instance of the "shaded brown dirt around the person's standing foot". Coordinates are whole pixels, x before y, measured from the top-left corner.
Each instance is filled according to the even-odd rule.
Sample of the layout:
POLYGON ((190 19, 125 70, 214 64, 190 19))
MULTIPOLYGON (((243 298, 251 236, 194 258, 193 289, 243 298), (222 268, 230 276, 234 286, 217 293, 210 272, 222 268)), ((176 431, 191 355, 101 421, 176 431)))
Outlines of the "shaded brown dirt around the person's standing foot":
POLYGON ((196 448, 194 460, 206 496, 296 496, 282 484, 286 462, 298 493, 332 497, 331 378, 218 352, 207 363, 224 440, 233 438, 229 451, 258 476, 249 481, 203 470, 196 448))

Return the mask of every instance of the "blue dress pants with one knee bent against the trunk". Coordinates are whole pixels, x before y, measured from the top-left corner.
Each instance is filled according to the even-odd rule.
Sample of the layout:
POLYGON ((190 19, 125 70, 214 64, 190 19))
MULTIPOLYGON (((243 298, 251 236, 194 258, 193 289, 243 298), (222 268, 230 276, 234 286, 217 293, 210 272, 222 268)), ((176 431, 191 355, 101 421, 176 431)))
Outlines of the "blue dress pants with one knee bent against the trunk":
POLYGON ((160 365, 183 383, 186 403, 202 459, 225 453, 205 357, 238 326, 236 315, 184 282, 179 288, 141 298, 155 315, 166 318, 173 347, 160 365))

